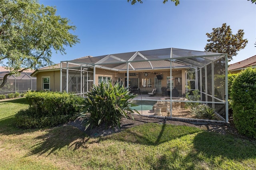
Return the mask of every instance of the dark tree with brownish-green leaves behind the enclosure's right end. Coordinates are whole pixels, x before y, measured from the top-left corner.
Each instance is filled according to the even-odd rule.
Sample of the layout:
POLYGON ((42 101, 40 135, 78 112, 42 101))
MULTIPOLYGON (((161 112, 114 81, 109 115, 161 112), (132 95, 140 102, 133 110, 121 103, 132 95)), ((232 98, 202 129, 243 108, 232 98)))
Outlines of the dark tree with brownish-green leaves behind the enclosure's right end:
POLYGON ((237 34, 232 34, 230 26, 226 23, 222 24, 220 28, 212 28, 212 33, 206 33, 209 38, 207 40, 205 51, 217 52, 217 53, 228 53, 228 61, 231 61, 234 56, 244 49, 248 43, 247 39, 244 38, 244 30, 238 30, 237 34))

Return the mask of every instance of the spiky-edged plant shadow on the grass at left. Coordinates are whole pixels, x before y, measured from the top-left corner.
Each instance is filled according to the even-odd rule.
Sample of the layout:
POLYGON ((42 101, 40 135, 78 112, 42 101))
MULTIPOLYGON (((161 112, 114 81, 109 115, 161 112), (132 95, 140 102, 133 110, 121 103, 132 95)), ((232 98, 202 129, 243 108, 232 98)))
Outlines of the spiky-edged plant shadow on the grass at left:
POLYGON ((46 134, 36 137, 35 140, 41 140, 41 142, 32 146, 32 150, 26 156, 42 155, 46 153, 48 156, 54 153, 54 151, 64 147, 74 147, 73 150, 80 147, 86 148, 85 144, 89 140, 89 137, 86 137, 86 135, 76 127, 61 126, 48 129, 46 134))

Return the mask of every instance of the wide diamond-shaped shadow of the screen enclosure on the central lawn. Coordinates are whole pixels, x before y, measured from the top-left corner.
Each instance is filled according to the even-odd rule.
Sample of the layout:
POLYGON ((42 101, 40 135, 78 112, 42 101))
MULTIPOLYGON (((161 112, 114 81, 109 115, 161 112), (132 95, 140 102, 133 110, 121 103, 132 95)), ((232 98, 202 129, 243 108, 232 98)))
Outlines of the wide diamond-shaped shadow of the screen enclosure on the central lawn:
POLYGON ((200 132, 201 130, 193 127, 162 125, 156 123, 147 123, 144 125, 126 129, 120 133, 111 136, 99 138, 100 140, 114 139, 123 142, 138 143, 145 145, 159 145, 163 142, 180 138, 184 135, 200 132))

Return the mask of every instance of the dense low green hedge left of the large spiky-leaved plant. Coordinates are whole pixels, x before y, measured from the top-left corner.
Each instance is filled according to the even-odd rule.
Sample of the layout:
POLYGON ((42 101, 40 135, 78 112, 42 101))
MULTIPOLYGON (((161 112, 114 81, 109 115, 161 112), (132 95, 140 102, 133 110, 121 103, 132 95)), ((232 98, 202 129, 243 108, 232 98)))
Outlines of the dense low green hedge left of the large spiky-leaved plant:
POLYGON ((26 93, 29 109, 18 112, 16 125, 22 128, 53 127, 74 120, 82 111, 84 101, 81 97, 70 93, 32 92, 26 93))

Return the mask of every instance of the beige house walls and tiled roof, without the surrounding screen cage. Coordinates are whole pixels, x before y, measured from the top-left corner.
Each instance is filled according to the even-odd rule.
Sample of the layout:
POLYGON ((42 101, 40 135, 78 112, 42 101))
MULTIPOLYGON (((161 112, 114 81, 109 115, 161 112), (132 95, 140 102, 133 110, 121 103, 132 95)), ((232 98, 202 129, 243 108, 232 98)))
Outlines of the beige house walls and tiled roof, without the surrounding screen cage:
MULTIPOLYGON (((92 57, 92 56, 86 56, 81 57, 78 59, 75 59, 76 63, 84 62, 86 60, 95 60, 99 61, 102 57, 92 57)), ((94 62, 95 62, 94 61, 94 62)), ((43 67, 40 68, 34 73, 32 73, 32 76, 36 76, 38 78, 37 81, 37 90, 51 90, 51 91, 60 91, 60 70, 62 67, 62 90, 67 90, 69 92, 74 93, 81 93, 81 77, 80 77, 80 71, 75 70, 78 67, 75 63, 68 63, 68 76, 70 78, 70 81, 68 82, 69 87, 68 90, 66 89, 66 68, 67 63, 63 62, 62 66, 61 63, 58 63, 56 65, 52 65, 49 67, 43 67), (79 73, 78 73, 79 72, 79 73)), ((88 61, 87 61, 88 62, 88 61)), ((129 87, 132 91, 138 93, 138 89, 140 89, 140 92, 142 93, 148 93, 151 92, 152 89, 157 88, 157 93, 162 93, 162 87, 176 87, 178 91, 181 93, 185 93, 185 72, 186 70, 190 69, 191 65, 188 65, 186 63, 180 63, 178 61, 167 61, 167 60, 160 60, 160 61, 151 61, 150 64, 152 64, 152 67, 155 69, 152 70, 148 67, 148 62, 136 62, 132 64, 132 67, 140 68, 140 71, 130 71, 127 76, 127 67, 123 67, 122 71, 114 71, 117 67, 120 67, 118 65, 117 67, 112 66, 111 69, 106 69, 103 67, 96 67, 95 72, 95 84, 99 84, 102 81, 104 83, 107 83, 109 80, 112 80, 112 82, 120 81, 121 83, 124 83, 125 86, 127 86, 127 77, 129 77, 129 87), (170 66, 172 63, 172 67, 175 67, 176 69, 173 69, 172 71, 172 78, 170 77, 170 66), (182 81, 183 79, 183 81, 182 81), (171 84, 172 83, 172 84, 171 84)), ((150 66, 151 67, 151 66, 150 66)), ((84 88, 84 85, 82 85, 82 93, 87 92, 90 87, 92 87, 93 84, 93 69, 87 68, 86 72, 84 71, 82 74, 84 76, 84 73, 86 73, 85 77, 88 77, 88 80, 86 81, 88 84, 88 88, 84 88)), ((84 78, 83 78, 84 79, 84 78)), ((168 91, 168 90, 167 90, 168 91)), ((168 93, 168 92, 167 92, 168 93)))

